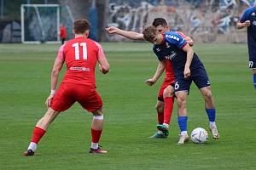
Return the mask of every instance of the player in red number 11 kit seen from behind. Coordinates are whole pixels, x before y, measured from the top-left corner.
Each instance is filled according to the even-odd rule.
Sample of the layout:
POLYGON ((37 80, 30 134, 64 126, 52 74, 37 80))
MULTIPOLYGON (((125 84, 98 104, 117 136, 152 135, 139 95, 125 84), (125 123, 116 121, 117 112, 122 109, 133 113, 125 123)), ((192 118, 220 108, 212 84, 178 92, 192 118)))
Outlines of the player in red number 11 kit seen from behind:
POLYGON ((108 59, 102 46, 88 37, 90 25, 87 20, 76 20, 73 23, 75 38, 61 46, 51 72, 51 92, 45 101, 48 111, 38 121, 32 133, 31 143, 24 156, 32 156, 39 140, 44 136, 49 124, 61 111, 66 111, 76 101, 93 114, 91 122, 90 153, 107 153, 99 147, 103 127, 102 99, 96 92, 95 68, 99 62, 100 71, 108 73, 108 59), (60 87, 55 92, 58 75, 63 64, 67 71, 60 87))

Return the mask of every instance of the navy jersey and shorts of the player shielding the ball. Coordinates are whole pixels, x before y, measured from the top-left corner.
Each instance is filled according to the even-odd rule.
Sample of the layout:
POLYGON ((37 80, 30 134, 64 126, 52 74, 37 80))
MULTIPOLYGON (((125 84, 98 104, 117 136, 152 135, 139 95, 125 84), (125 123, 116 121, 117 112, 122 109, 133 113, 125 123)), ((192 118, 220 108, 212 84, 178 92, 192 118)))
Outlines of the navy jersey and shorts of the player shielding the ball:
POLYGON ((210 86, 207 71, 196 54, 194 54, 190 65, 191 76, 184 78, 183 71, 187 60, 187 53, 183 51, 183 47, 187 45, 185 39, 174 31, 164 33, 163 37, 163 42, 160 45, 154 45, 153 51, 159 60, 171 60, 175 77, 175 91, 189 91, 192 81, 198 88, 210 86))

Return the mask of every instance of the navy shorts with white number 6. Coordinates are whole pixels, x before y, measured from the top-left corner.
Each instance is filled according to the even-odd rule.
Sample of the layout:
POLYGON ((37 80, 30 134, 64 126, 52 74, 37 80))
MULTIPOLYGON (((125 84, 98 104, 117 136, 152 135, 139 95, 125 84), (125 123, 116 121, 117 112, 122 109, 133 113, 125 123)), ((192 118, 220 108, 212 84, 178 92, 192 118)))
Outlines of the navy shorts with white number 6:
POLYGON ((195 82, 197 88, 205 88, 210 86, 210 81, 207 76, 207 71, 203 65, 191 71, 189 78, 184 78, 183 74, 175 75, 174 90, 177 91, 188 91, 191 83, 195 82))

